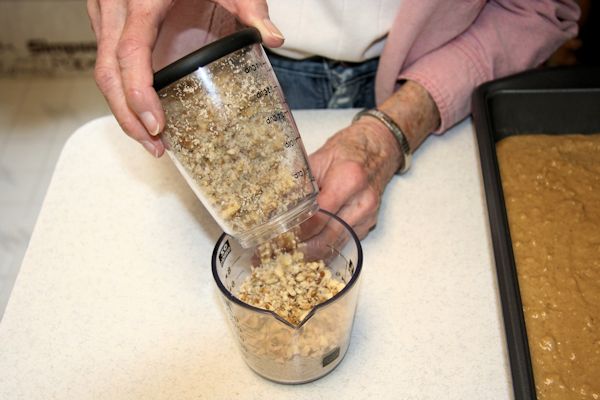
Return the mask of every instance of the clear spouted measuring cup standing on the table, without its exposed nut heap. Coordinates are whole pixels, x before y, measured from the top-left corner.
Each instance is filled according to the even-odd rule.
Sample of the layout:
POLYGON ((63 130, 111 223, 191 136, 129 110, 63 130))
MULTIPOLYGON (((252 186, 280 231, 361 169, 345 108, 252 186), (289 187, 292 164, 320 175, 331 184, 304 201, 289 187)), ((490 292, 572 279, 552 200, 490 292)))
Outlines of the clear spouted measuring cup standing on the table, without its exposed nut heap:
POLYGON ((239 299, 239 288, 252 268, 261 268, 257 264, 263 247, 244 249, 223 234, 212 255, 213 276, 244 360, 259 375, 280 383, 310 382, 341 362, 350 343, 362 269, 358 238, 333 214, 320 210, 293 231, 303 258, 323 260, 343 284, 297 324, 239 299))

